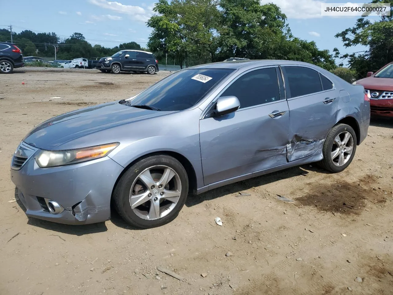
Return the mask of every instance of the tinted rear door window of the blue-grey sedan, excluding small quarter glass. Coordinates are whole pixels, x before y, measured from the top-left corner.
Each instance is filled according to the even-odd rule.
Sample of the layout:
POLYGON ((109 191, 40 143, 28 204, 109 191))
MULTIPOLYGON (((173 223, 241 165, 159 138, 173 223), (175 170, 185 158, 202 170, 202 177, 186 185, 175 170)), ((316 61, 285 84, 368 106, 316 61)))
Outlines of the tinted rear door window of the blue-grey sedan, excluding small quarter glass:
POLYGON ((283 69, 288 79, 291 98, 322 91, 317 71, 303 66, 284 66, 283 69))

